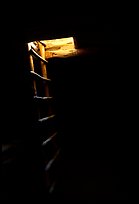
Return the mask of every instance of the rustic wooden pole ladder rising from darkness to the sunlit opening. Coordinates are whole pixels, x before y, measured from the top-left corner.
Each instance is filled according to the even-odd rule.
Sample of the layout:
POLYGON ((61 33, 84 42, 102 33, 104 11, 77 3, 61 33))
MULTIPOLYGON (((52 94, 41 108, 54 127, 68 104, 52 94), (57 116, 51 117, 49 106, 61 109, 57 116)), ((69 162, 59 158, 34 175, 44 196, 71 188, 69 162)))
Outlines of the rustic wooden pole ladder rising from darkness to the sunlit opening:
POLYGON ((60 153, 52 80, 47 70, 49 62, 45 57, 45 44, 29 42, 27 49, 32 85, 32 126, 40 143, 44 191, 50 194, 56 183, 60 153))

